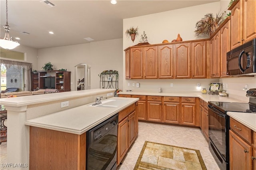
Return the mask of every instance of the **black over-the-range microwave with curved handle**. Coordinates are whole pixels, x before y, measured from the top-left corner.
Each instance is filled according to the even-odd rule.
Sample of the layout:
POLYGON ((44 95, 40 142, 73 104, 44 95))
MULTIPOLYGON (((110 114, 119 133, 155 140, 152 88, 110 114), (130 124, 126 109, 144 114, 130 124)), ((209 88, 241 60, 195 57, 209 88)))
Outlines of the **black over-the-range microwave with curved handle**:
POLYGON ((256 74, 256 38, 227 52, 227 75, 256 74))

